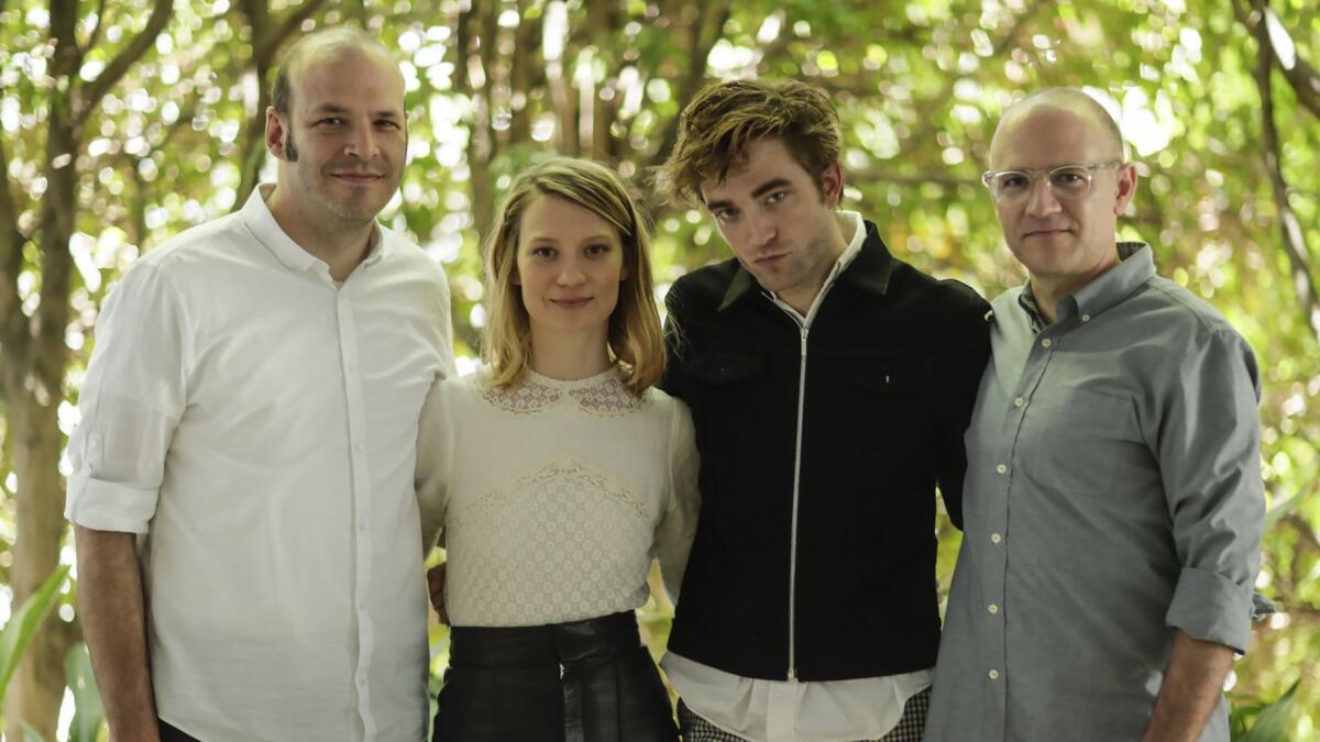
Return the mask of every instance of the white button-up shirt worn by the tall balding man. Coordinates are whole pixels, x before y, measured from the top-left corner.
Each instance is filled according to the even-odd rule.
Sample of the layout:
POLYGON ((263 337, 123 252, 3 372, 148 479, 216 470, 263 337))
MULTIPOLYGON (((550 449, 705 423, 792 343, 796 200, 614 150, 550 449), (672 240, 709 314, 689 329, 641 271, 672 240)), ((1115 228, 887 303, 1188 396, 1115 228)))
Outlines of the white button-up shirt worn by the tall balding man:
POLYGON ((96 323, 70 520, 139 533, 160 717, 216 741, 425 739, 417 419, 449 289, 378 228, 337 285, 264 197, 128 272, 96 323))

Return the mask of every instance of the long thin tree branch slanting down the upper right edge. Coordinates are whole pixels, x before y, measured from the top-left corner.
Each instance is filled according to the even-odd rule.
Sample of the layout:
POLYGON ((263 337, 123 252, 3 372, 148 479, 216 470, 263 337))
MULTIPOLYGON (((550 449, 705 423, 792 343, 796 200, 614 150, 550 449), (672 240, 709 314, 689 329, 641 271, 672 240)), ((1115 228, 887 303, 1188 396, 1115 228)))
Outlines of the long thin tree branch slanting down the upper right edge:
MULTIPOLYGON (((1255 8, 1257 15, 1263 15, 1265 0, 1255 0, 1255 8)), ((1270 54, 1270 32, 1263 22, 1257 22, 1251 30, 1261 45, 1255 66, 1255 86, 1261 91, 1261 139, 1265 149, 1265 169, 1270 176, 1274 203, 1279 211, 1283 252, 1288 256, 1288 265, 1292 268, 1292 285, 1298 292, 1298 301, 1302 304, 1307 325, 1312 334, 1320 338, 1320 300, 1316 298, 1316 281, 1311 276, 1311 267, 1307 263, 1311 251, 1307 248, 1307 235, 1302 230, 1302 223, 1288 203, 1288 184, 1283 177, 1280 164, 1282 148, 1279 131, 1274 123, 1274 91, 1270 75, 1274 67, 1274 57, 1270 54)))

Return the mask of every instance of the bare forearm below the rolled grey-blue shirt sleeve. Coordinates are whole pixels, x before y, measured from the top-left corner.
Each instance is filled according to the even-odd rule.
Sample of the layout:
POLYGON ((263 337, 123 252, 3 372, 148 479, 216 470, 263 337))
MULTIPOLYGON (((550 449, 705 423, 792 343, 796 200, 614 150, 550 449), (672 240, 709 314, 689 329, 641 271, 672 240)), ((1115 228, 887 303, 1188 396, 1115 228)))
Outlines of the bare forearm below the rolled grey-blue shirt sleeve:
POLYGON ((1196 742, 1224 693, 1232 664, 1232 648, 1179 628, 1142 742, 1196 742))

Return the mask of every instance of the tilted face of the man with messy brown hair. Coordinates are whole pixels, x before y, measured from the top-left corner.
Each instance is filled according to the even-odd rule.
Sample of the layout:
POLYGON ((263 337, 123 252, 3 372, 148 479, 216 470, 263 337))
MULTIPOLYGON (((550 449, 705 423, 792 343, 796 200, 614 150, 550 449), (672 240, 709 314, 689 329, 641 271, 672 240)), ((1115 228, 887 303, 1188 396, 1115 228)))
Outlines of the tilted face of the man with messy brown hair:
POLYGON ((723 181, 702 182, 701 198, 756 283, 805 312, 845 247, 834 220, 842 173, 830 165, 822 193, 783 140, 760 139, 746 154, 723 181))

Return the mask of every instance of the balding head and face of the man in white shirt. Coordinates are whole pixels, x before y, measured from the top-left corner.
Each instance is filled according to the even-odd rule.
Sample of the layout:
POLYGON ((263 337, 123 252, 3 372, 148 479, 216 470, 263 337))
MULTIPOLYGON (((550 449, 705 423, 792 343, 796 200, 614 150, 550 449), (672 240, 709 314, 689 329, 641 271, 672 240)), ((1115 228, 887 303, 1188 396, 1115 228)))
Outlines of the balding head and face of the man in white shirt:
POLYGON ((289 116, 268 116, 277 190, 318 228, 370 222, 399 189, 408 149, 399 69, 376 51, 338 46, 309 57, 290 83, 289 116))

